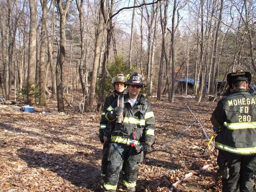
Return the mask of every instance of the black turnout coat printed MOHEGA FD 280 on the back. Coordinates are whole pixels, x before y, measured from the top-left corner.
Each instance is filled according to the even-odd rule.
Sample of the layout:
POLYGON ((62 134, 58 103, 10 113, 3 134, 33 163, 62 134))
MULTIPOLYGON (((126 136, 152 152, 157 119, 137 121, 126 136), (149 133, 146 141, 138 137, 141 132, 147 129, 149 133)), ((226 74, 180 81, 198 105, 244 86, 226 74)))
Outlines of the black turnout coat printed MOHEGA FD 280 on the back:
POLYGON ((256 154, 256 96, 236 89, 218 102, 211 117, 220 129, 215 147, 238 155, 256 154))

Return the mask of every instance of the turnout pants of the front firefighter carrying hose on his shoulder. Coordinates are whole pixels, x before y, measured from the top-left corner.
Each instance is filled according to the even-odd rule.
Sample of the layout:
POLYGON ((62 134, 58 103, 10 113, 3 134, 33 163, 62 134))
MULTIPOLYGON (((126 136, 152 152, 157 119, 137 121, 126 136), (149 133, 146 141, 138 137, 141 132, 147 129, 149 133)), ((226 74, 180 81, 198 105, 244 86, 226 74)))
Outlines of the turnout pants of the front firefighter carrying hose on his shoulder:
POLYGON ((123 176, 123 190, 135 192, 135 186, 138 178, 139 163, 141 163, 146 155, 146 152, 134 154, 134 148, 127 146, 126 144, 110 143, 108 152, 108 169, 104 178, 104 189, 103 191, 115 192, 119 174, 122 168, 124 159, 126 160, 126 166, 123 176), (119 150, 116 150, 118 148, 119 150), (122 156, 119 154, 121 153, 122 156))

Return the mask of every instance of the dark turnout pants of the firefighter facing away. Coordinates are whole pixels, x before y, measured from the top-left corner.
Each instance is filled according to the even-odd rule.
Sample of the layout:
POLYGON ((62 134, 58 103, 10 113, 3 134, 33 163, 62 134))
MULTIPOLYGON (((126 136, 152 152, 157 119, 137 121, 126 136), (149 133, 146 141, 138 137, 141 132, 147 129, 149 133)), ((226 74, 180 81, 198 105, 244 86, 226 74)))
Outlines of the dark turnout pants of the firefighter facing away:
POLYGON ((222 192, 252 192, 256 155, 236 155, 219 150, 217 163, 222 176, 222 192))

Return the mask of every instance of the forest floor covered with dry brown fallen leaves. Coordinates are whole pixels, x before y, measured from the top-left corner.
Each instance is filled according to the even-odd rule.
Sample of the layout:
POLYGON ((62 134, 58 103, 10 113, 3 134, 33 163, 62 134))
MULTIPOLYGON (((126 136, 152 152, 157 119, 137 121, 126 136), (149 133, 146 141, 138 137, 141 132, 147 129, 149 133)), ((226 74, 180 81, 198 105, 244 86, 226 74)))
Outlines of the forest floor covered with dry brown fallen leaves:
MULTIPOLYGON (((206 98, 198 103, 182 96, 175 96, 174 103, 149 100, 156 117, 155 149, 188 129, 168 146, 149 150, 140 164, 136 191, 169 192, 172 184, 193 172, 173 191, 220 192, 214 147, 202 156, 208 143, 202 128, 210 138, 210 116, 217 102, 206 98), (209 167, 195 172, 205 165, 209 167)), ((96 110, 81 114, 67 104, 64 113, 56 104, 35 107, 34 113, 0 108, 0 192, 100 191, 100 115, 96 110)))

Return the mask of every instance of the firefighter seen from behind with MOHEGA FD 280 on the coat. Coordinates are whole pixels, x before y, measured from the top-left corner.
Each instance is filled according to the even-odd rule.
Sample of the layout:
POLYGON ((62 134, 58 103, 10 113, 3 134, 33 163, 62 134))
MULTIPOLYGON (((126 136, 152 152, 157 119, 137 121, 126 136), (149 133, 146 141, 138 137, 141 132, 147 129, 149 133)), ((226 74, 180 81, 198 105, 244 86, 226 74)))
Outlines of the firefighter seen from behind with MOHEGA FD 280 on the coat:
POLYGON ((256 96, 246 89, 251 73, 227 75, 233 91, 219 100, 211 122, 218 132, 215 148, 222 176, 222 192, 252 192, 256 170, 256 96))

